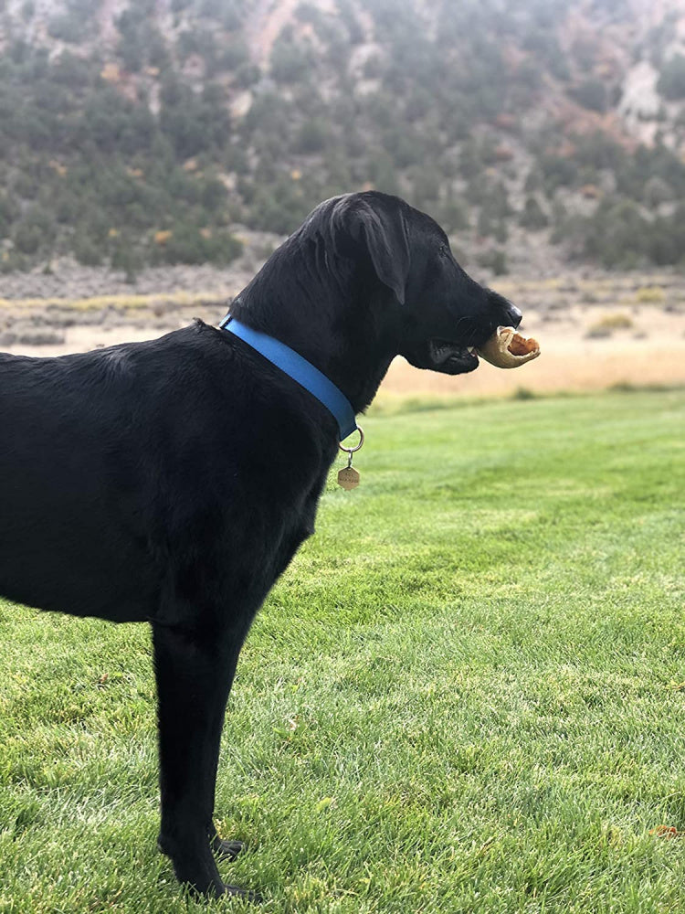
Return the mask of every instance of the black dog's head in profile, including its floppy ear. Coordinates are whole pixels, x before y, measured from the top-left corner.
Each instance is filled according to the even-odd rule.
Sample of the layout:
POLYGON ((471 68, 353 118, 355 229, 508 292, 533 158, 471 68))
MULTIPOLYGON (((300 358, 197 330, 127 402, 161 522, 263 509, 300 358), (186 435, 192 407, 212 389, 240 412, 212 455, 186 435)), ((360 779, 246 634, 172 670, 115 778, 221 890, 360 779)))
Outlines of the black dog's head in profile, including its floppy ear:
POLYGON ((472 280, 445 232, 399 197, 376 191, 327 201, 336 249, 382 287, 396 352, 419 368, 458 375, 478 367, 472 349, 521 312, 472 280))

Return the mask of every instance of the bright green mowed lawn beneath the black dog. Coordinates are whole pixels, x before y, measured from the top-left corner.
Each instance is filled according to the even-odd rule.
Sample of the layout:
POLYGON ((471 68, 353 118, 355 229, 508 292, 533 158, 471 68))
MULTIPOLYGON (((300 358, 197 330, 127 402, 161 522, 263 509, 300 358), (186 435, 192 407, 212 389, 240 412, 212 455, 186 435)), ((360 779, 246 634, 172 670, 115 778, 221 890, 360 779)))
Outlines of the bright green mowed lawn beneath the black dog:
MULTIPOLYGON (((685 911, 685 391, 419 407, 250 633, 222 872, 292 914, 685 911)), ((0 644, 0 911, 258 910, 155 851, 146 629, 0 601, 0 644)))

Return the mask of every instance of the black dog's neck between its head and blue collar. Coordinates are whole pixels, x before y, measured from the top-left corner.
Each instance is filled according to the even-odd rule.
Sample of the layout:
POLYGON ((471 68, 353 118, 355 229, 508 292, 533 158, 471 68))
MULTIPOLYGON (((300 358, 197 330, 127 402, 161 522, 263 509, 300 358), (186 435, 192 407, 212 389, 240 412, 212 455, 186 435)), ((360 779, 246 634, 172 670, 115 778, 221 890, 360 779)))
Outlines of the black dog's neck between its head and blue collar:
MULTIPOLYGON (((301 258, 300 270, 294 271, 299 281, 293 282, 285 259, 279 271, 279 254, 287 246, 289 242, 271 256, 269 270, 259 271, 237 295, 230 313, 289 345, 340 388, 355 412, 362 412, 396 355, 392 333, 373 316, 385 309, 369 303, 369 296, 385 292, 373 283, 364 288, 364 282, 354 282, 352 270, 344 277, 328 271, 327 264, 322 273, 311 269, 311 260, 317 262, 311 256, 301 258)), ((289 265, 297 253, 287 251, 289 265)))

